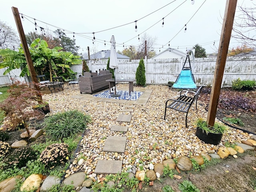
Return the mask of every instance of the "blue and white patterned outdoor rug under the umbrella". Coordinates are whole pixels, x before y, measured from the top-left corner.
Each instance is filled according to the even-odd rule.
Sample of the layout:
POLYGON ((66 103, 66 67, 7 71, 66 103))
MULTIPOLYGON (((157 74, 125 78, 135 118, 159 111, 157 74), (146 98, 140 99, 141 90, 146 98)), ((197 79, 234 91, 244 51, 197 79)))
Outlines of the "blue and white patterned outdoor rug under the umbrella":
POLYGON ((96 95, 94 95, 94 97, 136 101, 142 95, 142 93, 143 92, 140 92, 140 91, 134 91, 134 92, 131 92, 131 94, 129 95, 128 91, 117 90, 116 94, 118 94, 120 96, 119 97, 111 97, 111 95, 109 94, 109 90, 108 90, 108 91, 104 91, 99 94, 96 94, 96 95))

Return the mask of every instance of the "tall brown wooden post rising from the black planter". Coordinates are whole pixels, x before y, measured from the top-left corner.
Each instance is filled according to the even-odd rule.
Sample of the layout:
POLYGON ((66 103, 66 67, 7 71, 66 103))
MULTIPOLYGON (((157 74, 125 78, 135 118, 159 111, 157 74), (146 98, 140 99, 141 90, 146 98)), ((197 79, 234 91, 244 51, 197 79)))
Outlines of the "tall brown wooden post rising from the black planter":
POLYGON ((216 68, 214 72, 214 79, 212 83, 212 92, 210 95, 209 111, 207 115, 208 126, 214 126, 218 101, 220 96, 220 88, 222 78, 224 74, 224 68, 226 64, 226 58, 228 54, 228 46, 230 42, 230 36, 232 32, 234 16, 236 12, 237 0, 227 0, 225 14, 222 24, 222 32, 220 36, 220 45, 218 50, 218 56, 216 60, 216 68))

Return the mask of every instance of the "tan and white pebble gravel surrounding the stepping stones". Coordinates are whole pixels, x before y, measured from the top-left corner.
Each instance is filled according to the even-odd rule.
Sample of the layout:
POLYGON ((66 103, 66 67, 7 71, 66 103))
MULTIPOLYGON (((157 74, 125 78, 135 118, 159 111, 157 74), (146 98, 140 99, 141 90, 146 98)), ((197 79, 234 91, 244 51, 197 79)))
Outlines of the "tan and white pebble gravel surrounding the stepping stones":
MULTIPOLYGON (((118 87, 128 90, 127 84, 118 84, 118 87)), ((136 88, 140 90, 139 87, 136 88)), ((43 99, 50 104, 51 114, 77 109, 92 117, 92 123, 88 125, 88 131, 82 139, 81 150, 77 153, 77 157, 82 153, 87 159, 81 165, 75 160, 66 176, 78 169, 92 174, 98 160, 108 159, 122 160, 124 170, 128 170, 131 165, 137 170, 139 166, 148 170, 150 162, 156 164, 168 158, 191 157, 209 150, 217 152, 219 147, 224 146, 224 142, 239 142, 249 138, 249 134, 229 128, 218 146, 204 144, 196 136, 194 123, 197 118, 206 119, 206 103, 198 101, 197 110, 195 104, 191 106, 186 128, 185 113, 168 110, 166 120, 163 119, 165 101, 176 96, 177 91, 164 85, 148 85, 146 88, 152 89, 152 94, 146 105, 134 106, 130 123, 116 122, 119 114, 130 114, 121 112, 124 104, 72 98, 80 94, 79 89, 65 87, 63 93, 43 95, 43 99), (113 125, 128 126, 128 132, 112 132, 110 128, 113 125), (110 135, 127 137, 124 153, 102 151, 106 138, 110 135)))

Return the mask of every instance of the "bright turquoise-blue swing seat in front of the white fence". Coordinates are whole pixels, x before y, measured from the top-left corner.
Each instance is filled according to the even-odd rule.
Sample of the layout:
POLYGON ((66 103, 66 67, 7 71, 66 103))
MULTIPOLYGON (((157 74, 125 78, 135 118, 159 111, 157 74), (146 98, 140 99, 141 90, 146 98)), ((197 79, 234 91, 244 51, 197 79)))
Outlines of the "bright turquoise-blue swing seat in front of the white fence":
POLYGON ((182 70, 172 87, 178 89, 196 89, 196 84, 193 79, 194 78, 191 69, 182 70))

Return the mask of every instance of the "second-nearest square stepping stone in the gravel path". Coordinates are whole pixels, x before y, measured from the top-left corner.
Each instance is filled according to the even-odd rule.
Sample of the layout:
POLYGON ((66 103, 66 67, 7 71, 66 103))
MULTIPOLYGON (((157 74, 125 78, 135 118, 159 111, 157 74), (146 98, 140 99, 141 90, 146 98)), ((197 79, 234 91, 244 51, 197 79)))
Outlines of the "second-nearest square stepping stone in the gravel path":
POLYGON ((108 136, 103 151, 124 153, 126 137, 108 136))

